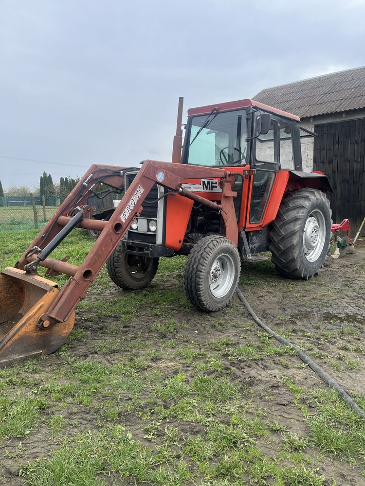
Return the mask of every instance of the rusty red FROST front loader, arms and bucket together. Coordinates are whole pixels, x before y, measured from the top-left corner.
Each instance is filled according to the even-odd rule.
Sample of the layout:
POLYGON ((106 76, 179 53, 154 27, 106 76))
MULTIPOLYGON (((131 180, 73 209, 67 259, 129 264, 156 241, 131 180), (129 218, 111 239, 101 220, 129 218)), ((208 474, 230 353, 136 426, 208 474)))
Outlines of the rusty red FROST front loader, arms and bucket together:
POLYGON ((104 263, 142 211, 146 195, 156 183, 166 187, 167 197, 179 194, 220 213, 228 239, 237 245, 237 220, 232 191, 234 175, 219 168, 187 167, 182 164, 146 160, 128 187, 109 221, 91 219, 88 197, 103 183, 114 191, 124 190, 124 176, 130 168, 92 165, 59 207, 53 218, 25 251, 15 268, 0 274, 0 366, 29 356, 49 354, 70 334, 74 308, 86 294, 104 263), (183 189, 184 179, 219 178, 220 204, 183 189), (74 227, 101 231, 90 253, 80 266, 49 258, 57 245, 74 227), (48 268, 50 276, 60 273, 70 278, 62 289, 37 275, 37 267, 48 268))

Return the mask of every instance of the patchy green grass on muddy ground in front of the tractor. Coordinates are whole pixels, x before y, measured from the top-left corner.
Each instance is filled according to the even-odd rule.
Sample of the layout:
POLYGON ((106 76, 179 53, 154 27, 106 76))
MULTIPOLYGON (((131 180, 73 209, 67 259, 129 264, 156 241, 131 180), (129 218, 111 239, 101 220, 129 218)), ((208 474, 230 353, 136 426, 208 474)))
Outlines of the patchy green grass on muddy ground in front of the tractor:
MULTIPOLYGON (((2 266, 14 264, 35 234, 1 231, 2 266)), ((69 254, 79 264, 93 243, 76 230, 53 256, 69 254)), ((110 286, 102 269, 60 350, 0 368, 0 453, 2 462, 21 465, 24 485, 327 486, 338 460, 365 469, 358 417, 336 394, 310 388, 310 370, 236 301, 215 315, 192 310, 183 293, 185 260, 161 259, 141 292, 110 286), (44 450, 31 459, 40 439, 44 450)), ((301 283, 278 278, 270 261, 242 270, 253 300, 276 290, 284 300, 291 293, 309 299, 304 287, 297 290, 301 283)), ((270 313, 264 317, 270 324, 270 313)), ((272 319, 300 345, 310 339, 325 365, 351 376, 362 370, 364 350, 345 323, 307 329, 295 316, 294 326, 285 302, 272 319), (329 355, 323 345, 337 337, 329 355)), ((0 467, 0 482, 9 482, 1 474, 0 467)))

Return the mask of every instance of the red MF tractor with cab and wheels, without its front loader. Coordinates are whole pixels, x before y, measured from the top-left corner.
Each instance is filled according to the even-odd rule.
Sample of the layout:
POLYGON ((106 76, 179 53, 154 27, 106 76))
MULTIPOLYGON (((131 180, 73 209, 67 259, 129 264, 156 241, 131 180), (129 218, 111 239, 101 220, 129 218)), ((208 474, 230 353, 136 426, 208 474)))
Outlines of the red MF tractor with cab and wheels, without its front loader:
MULTIPOLYGON (((281 275, 313 277, 329 248, 331 188, 324 174, 302 172, 301 136, 311 134, 299 127, 298 117, 253 100, 188 110, 182 155, 175 138, 174 161, 186 175, 194 166, 229 174, 232 233, 222 218, 225 205, 215 208, 179 194, 187 189, 221 204, 221 178, 184 176, 177 194, 156 183, 108 260, 110 278, 123 289, 141 289, 155 276, 159 257, 189 255, 186 295, 197 308, 217 311, 236 291, 240 258, 256 261, 265 257, 253 255, 271 251, 281 275)), ((126 174, 126 188, 138 172, 126 174)))

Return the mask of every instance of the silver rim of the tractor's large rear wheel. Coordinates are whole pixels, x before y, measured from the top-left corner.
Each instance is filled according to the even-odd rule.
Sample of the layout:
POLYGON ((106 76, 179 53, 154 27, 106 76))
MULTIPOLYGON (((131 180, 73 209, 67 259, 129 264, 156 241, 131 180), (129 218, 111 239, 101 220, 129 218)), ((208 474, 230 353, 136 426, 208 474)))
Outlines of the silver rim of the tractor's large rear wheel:
POLYGON ((326 240, 326 222, 323 213, 316 209, 306 221, 303 233, 303 251, 308 261, 320 257, 326 240))

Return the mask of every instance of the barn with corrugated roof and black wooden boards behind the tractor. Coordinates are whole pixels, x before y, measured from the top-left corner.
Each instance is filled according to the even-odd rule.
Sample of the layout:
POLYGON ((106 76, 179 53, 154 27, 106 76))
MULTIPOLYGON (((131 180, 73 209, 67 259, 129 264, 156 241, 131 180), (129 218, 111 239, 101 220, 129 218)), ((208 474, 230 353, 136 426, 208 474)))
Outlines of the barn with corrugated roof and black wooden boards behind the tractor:
POLYGON ((348 218, 355 234, 365 216, 365 67, 266 88, 254 99, 298 115, 316 134, 302 140, 303 170, 328 175, 333 221, 348 218))

